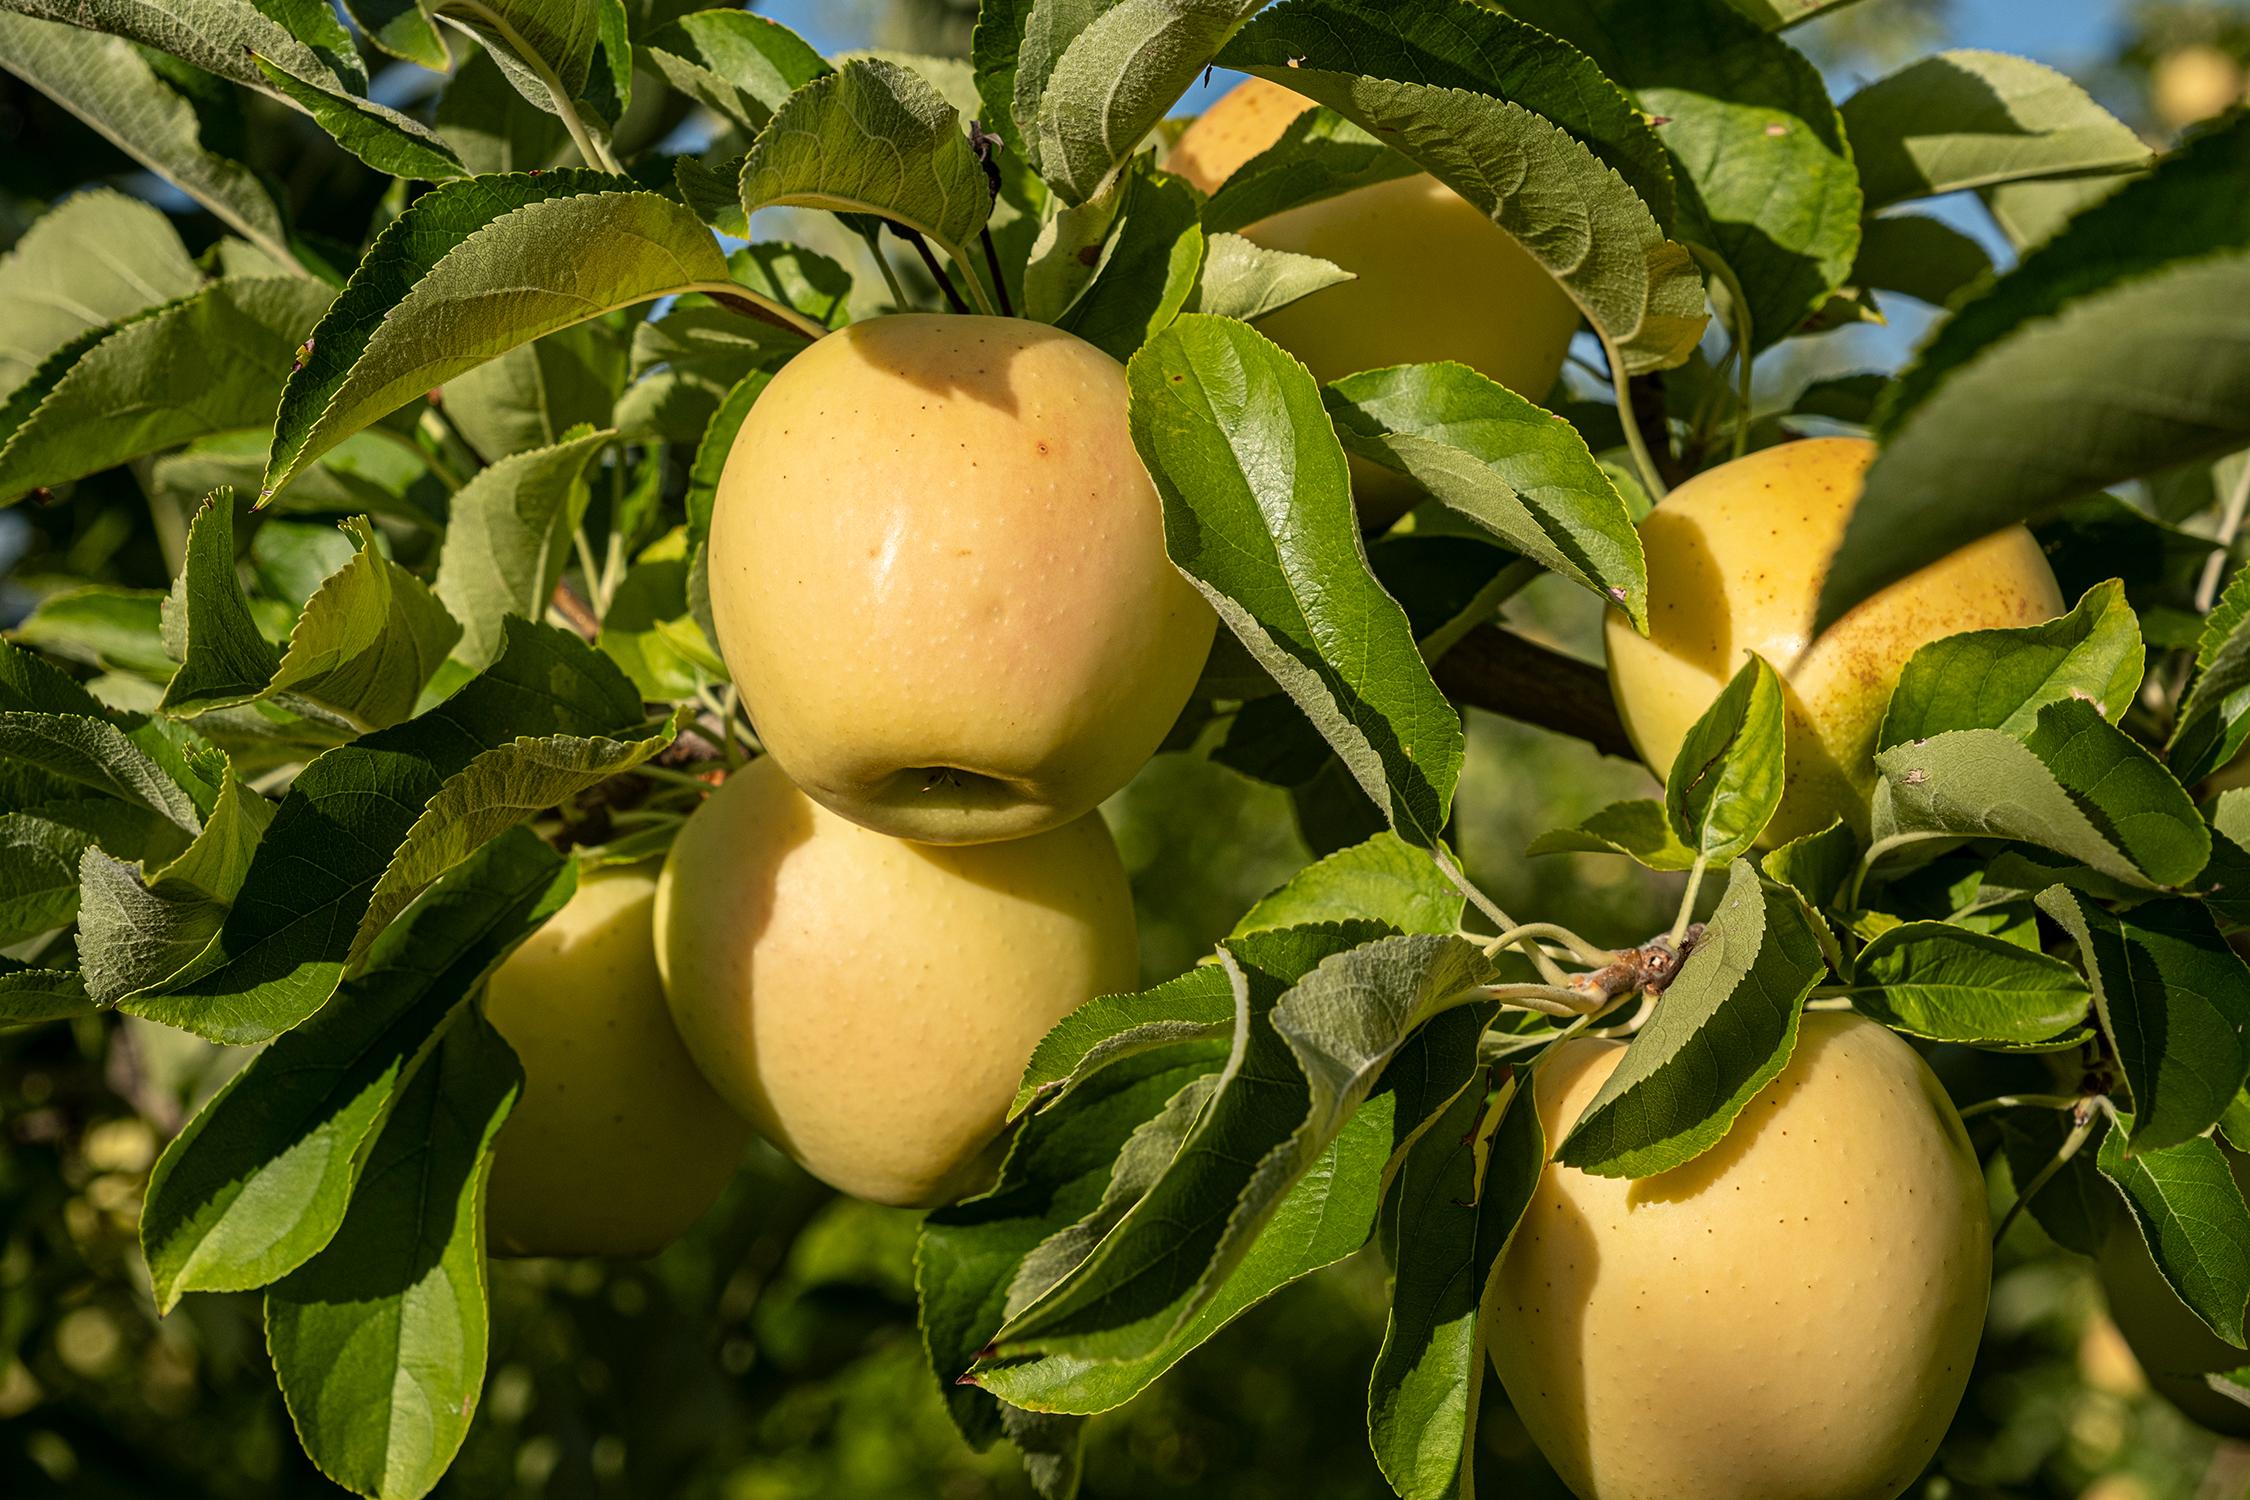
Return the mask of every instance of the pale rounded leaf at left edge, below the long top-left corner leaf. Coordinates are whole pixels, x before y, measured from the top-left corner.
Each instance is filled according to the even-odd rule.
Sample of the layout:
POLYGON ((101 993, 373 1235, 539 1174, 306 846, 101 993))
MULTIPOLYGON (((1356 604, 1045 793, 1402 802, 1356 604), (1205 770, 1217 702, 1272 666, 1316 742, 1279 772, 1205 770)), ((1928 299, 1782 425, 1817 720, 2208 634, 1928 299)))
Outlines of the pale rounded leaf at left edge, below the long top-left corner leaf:
POLYGON ((72 193, 0 256, 0 396, 79 335, 198 286, 162 209, 106 187, 72 193))

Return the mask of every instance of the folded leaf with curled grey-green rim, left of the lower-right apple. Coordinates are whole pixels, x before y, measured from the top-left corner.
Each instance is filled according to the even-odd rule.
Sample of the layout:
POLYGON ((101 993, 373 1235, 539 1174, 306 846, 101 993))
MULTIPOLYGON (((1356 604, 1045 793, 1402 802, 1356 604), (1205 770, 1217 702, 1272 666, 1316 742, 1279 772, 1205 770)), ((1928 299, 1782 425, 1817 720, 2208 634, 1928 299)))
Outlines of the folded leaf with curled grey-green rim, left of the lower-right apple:
MULTIPOLYGON (((997 1358, 1044 1352, 1134 1361, 1163 1349, 1251 1253, 1400 1046, 1492 976, 1483 951, 1451 936, 1377 938, 1332 951, 1294 983, 1287 972, 1296 963, 1278 976, 1258 967, 1262 947, 1312 956, 1318 949, 1300 945, 1316 931, 1334 929, 1222 945, 1238 994, 1235 1034, 1244 1041, 1210 1104, 1116 1230, 1035 1302, 1010 1311, 992 1340, 997 1358)), ((992 1376, 986 1388, 1024 1403, 992 1376)))

